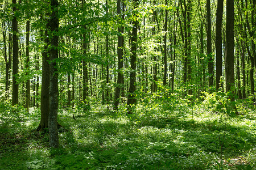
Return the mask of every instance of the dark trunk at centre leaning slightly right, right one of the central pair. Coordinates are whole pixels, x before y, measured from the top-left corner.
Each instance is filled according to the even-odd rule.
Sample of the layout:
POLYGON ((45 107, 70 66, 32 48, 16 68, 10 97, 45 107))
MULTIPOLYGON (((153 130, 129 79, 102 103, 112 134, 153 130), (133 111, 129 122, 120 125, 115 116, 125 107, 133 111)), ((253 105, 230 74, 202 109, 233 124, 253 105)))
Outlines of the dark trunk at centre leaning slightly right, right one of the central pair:
MULTIPOLYGON (((133 0, 134 9, 138 8, 139 1, 133 0)), ((136 14, 134 14, 136 17, 136 14)), ((138 34, 138 20, 133 21, 133 32, 131 35, 131 73, 130 73, 130 86, 128 91, 128 99, 127 99, 127 111, 129 114, 132 113, 132 105, 136 104, 135 98, 135 90, 136 90, 136 55, 137 55, 137 34, 138 34)))

